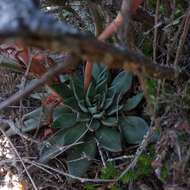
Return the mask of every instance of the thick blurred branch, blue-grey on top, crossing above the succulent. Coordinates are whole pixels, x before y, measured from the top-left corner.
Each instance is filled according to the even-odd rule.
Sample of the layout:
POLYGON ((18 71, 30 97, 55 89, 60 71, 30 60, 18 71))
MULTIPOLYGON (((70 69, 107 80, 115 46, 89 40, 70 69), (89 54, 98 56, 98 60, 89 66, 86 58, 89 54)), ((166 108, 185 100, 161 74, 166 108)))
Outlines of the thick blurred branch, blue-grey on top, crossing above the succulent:
POLYGON ((123 68, 134 73, 138 70, 138 73, 160 79, 176 79, 173 68, 156 65, 142 54, 100 42, 70 25, 57 22, 41 13, 31 0, 0 1, 0 38, 19 38, 29 46, 68 51, 110 68, 123 68))

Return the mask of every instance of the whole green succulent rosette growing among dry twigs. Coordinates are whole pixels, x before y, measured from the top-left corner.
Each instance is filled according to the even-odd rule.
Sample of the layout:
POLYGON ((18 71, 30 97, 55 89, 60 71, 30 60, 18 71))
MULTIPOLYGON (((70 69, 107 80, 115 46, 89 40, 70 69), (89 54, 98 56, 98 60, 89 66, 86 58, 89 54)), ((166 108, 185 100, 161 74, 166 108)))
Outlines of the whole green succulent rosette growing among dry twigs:
POLYGON ((143 98, 143 93, 126 98, 132 79, 131 73, 122 71, 111 80, 109 70, 96 64, 86 92, 83 78, 77 74, 52 85, 63 104, 53 113, 52 127, 58 130, 41 146, 40 161, 47 162, 65 152, 69 173, 81 176, 95 158, 97 145, 119 152, 125 142, 140 143, 148 124, 128 115, 143 98))

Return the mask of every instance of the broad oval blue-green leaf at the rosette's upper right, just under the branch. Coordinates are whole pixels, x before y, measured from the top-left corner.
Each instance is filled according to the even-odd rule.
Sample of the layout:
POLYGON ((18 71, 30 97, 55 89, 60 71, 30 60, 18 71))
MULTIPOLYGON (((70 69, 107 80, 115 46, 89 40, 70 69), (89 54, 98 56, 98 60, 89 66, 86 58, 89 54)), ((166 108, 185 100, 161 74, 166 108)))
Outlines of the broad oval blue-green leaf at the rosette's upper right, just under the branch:
POLYGON ((122 71, 114 78, 111 87, 115 93, 125 94, 131 88, 132 78, 131 73, 122 71))

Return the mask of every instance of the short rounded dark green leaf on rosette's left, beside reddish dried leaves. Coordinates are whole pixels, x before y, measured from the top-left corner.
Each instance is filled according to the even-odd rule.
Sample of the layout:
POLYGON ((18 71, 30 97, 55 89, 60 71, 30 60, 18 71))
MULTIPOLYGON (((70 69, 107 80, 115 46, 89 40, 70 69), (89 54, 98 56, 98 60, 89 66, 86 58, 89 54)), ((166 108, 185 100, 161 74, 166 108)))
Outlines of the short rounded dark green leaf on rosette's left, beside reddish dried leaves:
POLYGON ((69 128, 77 123, 78 114, 73 112, 66 106, 59 108, 59 111, 54 112, 54 121, 52 127, 54 128, 69 128), (57 113, 57 114, 56 114, 57 113))

